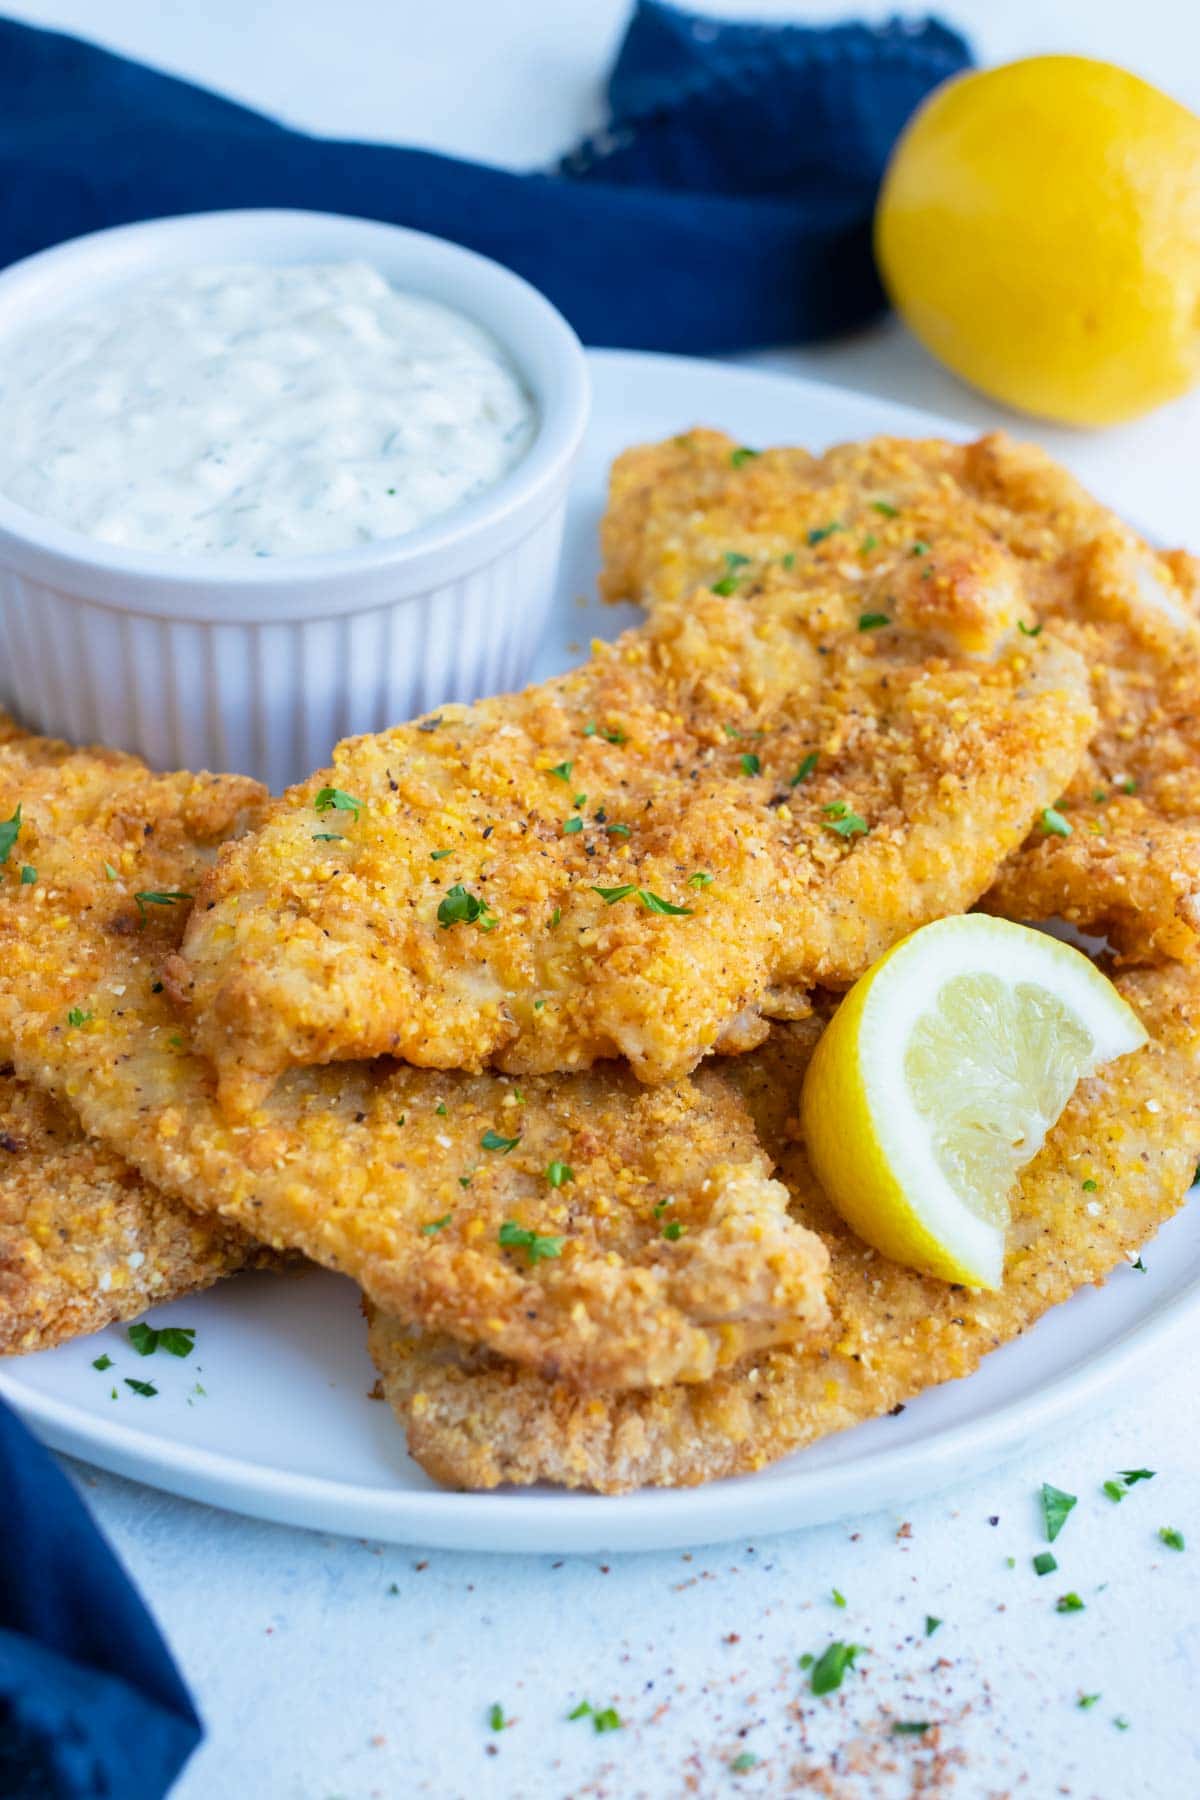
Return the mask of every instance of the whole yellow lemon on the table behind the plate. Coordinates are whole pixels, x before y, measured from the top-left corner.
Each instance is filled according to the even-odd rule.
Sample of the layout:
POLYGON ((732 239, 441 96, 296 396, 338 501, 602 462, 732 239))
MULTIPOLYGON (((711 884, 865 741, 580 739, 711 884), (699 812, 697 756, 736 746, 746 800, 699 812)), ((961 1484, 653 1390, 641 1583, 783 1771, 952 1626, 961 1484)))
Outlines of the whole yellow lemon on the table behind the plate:
POLYGON ((1112 63, 937 88, 892 151, 874 247, 927 349, 1011 407, 1112 425, 1200 376, 1200 119, 1112 63))

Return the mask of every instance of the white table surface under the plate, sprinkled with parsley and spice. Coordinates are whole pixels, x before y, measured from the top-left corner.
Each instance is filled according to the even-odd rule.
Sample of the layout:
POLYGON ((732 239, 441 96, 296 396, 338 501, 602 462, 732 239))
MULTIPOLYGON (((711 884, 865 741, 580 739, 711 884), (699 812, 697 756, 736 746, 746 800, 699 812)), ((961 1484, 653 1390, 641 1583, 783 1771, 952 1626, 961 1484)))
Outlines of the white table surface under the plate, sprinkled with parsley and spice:
MULTIPOLYGON (((599 121, 597 81, 624 18, 622 0, 9 0, 7 11, 103 36, 309 130, 513 166, 549 160, 599 121)), ((946 11, 988 61, 1108 56, 1200 106, 1200 9, 1184 0, 950 0, 946 11)), ((894 324, 757 360, 977 427, 1016 423, 1150 529, 1200 542, 1200 394, 1087 437, 1006 419, 894 324)), ((1106 1417, 907 1517, 885 1510, 694 1555, 425 1557, 74 1472, 207 1719, 176 1800, 673 1800, 792 1795, 813 1771, 829 1800, 1191 1800, 1200 1399, 1189 1361, 1178 1354, 1106 1417), (1119 1507, 1099 1492, 1115 1469, 1142 1465, 1155 1481, 1119 1507), (1038 1580, 1043 1480, 1079 1505, 1056 1544, 1060 1571, 1038 1580), (1189 1534, 1184 1555, 1159 1543, 1160 1525, 1189 1534), (1087 1611, 1054 1611, 1067 1588, 1087 1611), (927 1613, 945 1620, 934 1638, 927 1613), (837 1636, 869 1649, 864 1674, 815 1701, 797 1658, 837 1636), (1081 1692, 1103 1697, 1079 1710, 1081 1692), (615 1705, 622 1730, 565 1723, 583 1697, 615 1705), (493 1701, 513 1719, 498 1733, 493 1701), (891 1737, 892 1719, 937 1730, 891 1737), (732 1775, 747 1750, 757 1768, 732 1775)))

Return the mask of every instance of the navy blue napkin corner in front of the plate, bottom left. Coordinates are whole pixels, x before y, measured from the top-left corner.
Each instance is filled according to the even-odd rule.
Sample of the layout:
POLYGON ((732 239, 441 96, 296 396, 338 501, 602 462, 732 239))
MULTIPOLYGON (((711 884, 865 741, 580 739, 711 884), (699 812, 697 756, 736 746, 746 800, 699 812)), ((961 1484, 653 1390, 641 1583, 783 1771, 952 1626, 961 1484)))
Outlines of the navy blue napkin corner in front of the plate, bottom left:
POLYGON ((200 1719, 70 1481, 0 1404, 0 1795, 158 1800, 200 1719))

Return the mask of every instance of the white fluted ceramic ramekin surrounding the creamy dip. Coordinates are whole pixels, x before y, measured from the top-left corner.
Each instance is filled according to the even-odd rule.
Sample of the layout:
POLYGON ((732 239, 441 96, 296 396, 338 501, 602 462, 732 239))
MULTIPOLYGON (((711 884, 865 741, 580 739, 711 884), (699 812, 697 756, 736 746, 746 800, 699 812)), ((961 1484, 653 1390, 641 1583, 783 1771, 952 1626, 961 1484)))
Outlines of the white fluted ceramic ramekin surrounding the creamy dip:
POLYGON ((565 319, 498 263, 326 212, 155 220, 0 274, 0 342, 162 270, 344 259, 493 333, 538 407, 529 454, 408 536, 302 558, 117 549, 0 495, 0 702, 22 724, 281 788, 338 738, 522 679, 552 599, 588 376, 565 319))

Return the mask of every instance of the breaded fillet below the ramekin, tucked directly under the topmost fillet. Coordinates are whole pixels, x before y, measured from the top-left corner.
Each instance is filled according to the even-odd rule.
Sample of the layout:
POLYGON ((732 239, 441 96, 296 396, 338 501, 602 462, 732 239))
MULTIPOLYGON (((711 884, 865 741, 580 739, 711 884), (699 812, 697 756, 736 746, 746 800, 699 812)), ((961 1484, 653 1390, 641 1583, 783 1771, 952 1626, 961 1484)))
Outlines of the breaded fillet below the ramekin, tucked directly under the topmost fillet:
POLYGON ((164 1192, 578 1384, 700 1381, 824 1327, 824 1249, 721 1082, 376 1062, 295 1071, 227 1121, 158 972, 214 844, 259 805, 239 778, 0 745, 0 819, 20 806, 0 1055, 22 1078, 164 1192))

